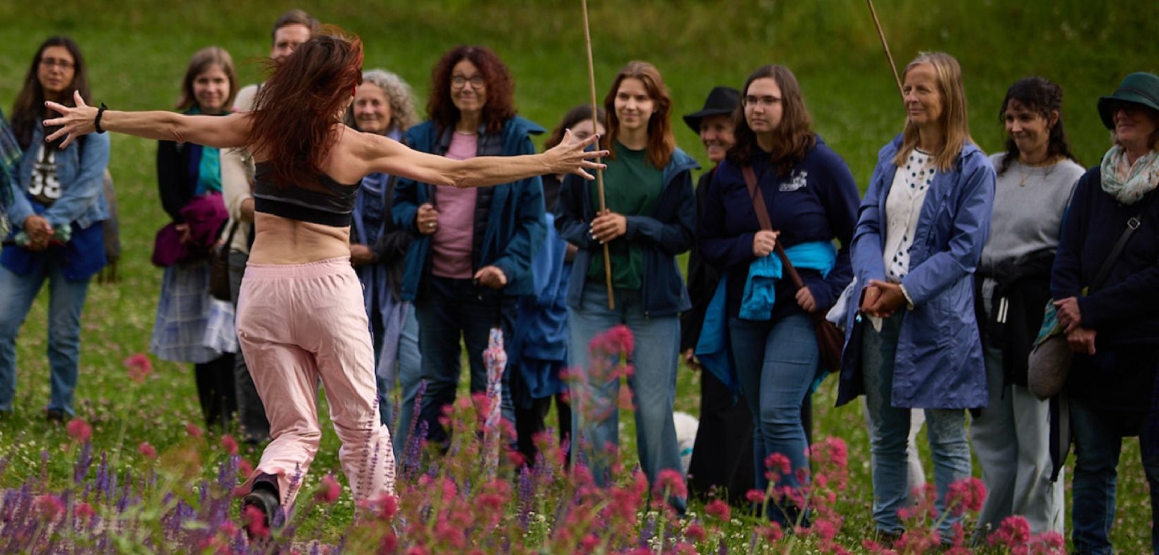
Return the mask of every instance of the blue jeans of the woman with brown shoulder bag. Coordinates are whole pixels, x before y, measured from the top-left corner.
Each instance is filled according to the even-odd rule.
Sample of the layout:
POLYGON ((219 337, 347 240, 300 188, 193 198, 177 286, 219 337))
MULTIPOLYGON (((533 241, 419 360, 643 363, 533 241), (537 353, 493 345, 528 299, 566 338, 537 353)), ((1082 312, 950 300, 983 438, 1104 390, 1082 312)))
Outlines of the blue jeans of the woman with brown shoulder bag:
MULTIPOLYGON (((752 410, 752 457, 755 487, 768 488, 765 460, 781 453, 789 460, 789 472, 777 485, 797 488, 799 468, 809 469, 806 457, 804 425, 801 403, 817 375, 818 349, 812 322, 804 314, 787 316, 779 322, 729 320, 729 342, 741 394, 752 410)), ((787 506, 775 507, 770 517, 781 524, 795 524, 787 506)))

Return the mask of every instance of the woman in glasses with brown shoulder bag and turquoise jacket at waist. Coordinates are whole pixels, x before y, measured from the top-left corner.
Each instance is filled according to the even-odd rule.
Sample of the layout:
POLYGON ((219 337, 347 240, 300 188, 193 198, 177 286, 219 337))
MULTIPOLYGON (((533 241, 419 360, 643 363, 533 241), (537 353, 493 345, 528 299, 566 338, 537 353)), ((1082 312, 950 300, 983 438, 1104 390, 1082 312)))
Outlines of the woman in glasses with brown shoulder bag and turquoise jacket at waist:
MULTIPOLYGON (((812 317, 828 312, 853 277, 850 242, 860 198, 845 161, 814 132, 787 67, 749 75, 734 121, 736 143, 705 199, 700 253, 724 276, 728 345, 752 410, 753 487, 765 491, 775 473, 777 488, 797 488, 799 473, 809 469, 801 406, 819 365, 812 317), (758 193, 772 229, 758 219, 758 193), (804 287, 786 279, 778 242, 804 287), (775 455, 787 463, 770 467, 775 455)), ((801 514, 785 499, 768 518, 792 526, 801 514)))

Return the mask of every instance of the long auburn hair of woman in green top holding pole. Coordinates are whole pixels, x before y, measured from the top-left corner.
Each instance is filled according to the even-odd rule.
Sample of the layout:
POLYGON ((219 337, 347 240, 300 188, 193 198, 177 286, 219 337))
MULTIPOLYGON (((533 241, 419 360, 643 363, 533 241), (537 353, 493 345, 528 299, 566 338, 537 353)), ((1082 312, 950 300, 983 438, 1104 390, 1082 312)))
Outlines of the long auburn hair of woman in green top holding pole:
POLYGON ((615 95, 620 92, 620 83, 625 79, 637 79, 644 83, 648 97, 656 104, 656 111, 648 118, 648 162, 657 169, 664 169, 672 160, 672 152, 676 151, 676 134, 672 133, 671 122, 672 97, 668 95, 659 70, 647 61, 629 61, 620 73, 615 74, 612 88, 604 97, 607 123, 604 124, 606 133, 599 138, 599 145, 611 151, 610 160, 615 160, 615 149, 612 145, 620 134, 620 117, 615 115, 615 95))

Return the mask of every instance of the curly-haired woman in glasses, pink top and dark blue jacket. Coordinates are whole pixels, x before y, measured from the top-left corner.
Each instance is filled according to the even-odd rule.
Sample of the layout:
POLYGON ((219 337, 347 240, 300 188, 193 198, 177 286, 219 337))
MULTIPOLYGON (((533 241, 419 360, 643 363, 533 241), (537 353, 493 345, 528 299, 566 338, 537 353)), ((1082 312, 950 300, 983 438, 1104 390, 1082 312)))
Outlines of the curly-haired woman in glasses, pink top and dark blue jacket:
MULTIPOLYGON (((431 72, 430 119, 403 140, 421 152, 452 160, 533 154, 539 125, 516 115, 515 79, 495 52, 457 46, 431 72)), ((436 188, 400 180, 394 221, 417 234, 407 251, 402 299, 418 317, 423 393, 418 425, 425 439, 445 445, 439 423, 454 402, 460 375, 460 338, 467 349, 471 392, 487 388, 483 350, 490 328, 510 338, 516 300, 534 291, 532 256, 547 232, 544 188, 529 177, 488 189, 436 188), (425 423, 425 424, 423 424, 425 423)), ((503 372, 503 418, 515 422, 510 378, 503 372)))

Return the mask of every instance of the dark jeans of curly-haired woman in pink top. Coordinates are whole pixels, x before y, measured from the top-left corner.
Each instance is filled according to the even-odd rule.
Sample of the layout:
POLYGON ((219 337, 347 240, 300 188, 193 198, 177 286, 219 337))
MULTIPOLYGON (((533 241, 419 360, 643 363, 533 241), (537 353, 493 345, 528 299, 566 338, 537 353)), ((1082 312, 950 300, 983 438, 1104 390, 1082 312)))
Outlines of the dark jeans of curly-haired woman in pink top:
MULTIPOLYGON (((502 297, 494 290, 475 285, 471 279, 431 276, 430 292, 415 301, 418 317, 418 349, 422 355, 423 394, 418 422, 427 423, 427 439, 449 445, 450 436, 439 424, 443 408, 454 403, 459 387, 459 337, 467 348, 471 366, 471 393, 487 392, 487 366, 483 351, 490 329, 502 324, 503 336, 512 337, 516 298, 502 297)), ((508 368, 503 370, 501 410, 503 419, 515 423, 515 403, 508 368)))

